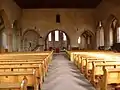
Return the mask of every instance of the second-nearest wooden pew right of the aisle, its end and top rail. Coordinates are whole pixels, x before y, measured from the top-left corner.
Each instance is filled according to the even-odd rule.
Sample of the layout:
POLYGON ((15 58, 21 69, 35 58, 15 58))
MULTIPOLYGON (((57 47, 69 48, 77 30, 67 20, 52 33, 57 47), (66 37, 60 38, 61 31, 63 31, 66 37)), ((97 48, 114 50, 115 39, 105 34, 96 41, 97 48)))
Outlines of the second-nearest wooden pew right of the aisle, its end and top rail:
POLYGON ((91 73, 91 83, 97 87, 98 82, 103 76, 104 69, 106 68, 119 68, 120 62, 105 62, 105 63, 95 63, 92 62, 93 68, 91 73))

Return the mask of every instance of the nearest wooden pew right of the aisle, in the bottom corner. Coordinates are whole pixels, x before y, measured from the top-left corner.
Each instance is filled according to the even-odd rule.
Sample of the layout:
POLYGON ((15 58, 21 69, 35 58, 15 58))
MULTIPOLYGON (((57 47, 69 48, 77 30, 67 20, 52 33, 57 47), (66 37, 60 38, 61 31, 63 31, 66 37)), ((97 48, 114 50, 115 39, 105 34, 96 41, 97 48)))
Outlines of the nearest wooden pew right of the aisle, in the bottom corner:
POLYGON ((105 69, 100 81, 100 90, 112 90, 111 88, 120 88, 120 68, 105 69), (109 85, 112 85, 109 87, 109 85))

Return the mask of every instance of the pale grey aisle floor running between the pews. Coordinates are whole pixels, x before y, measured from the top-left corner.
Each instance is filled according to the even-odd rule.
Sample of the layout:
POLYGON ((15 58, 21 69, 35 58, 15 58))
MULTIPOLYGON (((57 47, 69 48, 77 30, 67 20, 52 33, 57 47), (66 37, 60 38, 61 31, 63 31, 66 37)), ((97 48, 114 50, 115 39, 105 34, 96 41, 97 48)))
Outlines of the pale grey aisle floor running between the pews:
POLYGON ((95 90, 65 55, 56 54, 42 90, 95 90))

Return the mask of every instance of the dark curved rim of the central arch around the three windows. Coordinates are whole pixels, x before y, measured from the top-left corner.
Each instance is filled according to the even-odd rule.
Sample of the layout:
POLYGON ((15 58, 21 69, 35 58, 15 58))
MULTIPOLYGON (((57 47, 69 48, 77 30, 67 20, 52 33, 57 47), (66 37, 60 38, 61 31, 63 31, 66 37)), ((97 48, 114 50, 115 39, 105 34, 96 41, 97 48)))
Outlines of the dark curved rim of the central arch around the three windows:
POLYGON ((46 34, 46 36, 45 36, 45 49, 48 49, 48 48, 47 48, 47 39, 48 39, 49 33, 50 33, 50 32, 54 32, 54 31, 56 31, 56 30, 65 33, 65 35, 66 35, 66 37, 67 37, 67 49, 70 48, 70 37, 68 36, 68 34, 67 34, 64 30, 61 30, 61 29, 53 29, 53 30, 50 30, 50 31, 46 34))

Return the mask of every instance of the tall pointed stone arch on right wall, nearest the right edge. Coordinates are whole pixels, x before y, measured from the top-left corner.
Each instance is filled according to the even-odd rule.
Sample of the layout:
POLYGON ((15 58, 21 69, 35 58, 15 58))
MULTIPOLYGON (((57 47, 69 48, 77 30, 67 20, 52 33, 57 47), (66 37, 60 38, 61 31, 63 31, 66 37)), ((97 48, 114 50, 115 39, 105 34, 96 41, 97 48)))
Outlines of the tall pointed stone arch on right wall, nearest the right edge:
POLYGON ((117 28, 117 26, 119 25, 119 20, 117 19, 117 17, 113 14, 109 15, 107 20, 106 20, 106 23, 104 24, 104 46, 105 46, 105 49, 109 49, 111 44, 110 44, 110 33, 111 33, 111 30, 113 31, 113 44, 116 42, 116 31, 115 30, 117 28), (117 24, 115 26, 115 28, 112 28, 112 23, 114 20, 117 20, 117 24), (110 29, 111 28, 111 29, 110 29))

